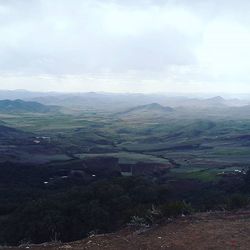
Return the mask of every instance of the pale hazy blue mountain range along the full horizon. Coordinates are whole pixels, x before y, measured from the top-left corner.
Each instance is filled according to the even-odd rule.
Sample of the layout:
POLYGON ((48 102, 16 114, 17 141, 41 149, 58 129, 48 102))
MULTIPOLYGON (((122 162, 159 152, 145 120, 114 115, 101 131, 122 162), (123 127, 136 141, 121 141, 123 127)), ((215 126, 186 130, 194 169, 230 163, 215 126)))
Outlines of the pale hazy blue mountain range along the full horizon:
POLYGON ((57 93, 57 92, 30 92, 26 90, 0 90, 0 100, 16 100, 39 102, 44 105, 58 105, 74 110, 104 110, 121 112, 136 106, 158 103, 162 106, 191 107, 191 108, 225 108, 227 106, 243 106, 250 104, 249 99, 228 99, 221 96, 212 97, 203 95, 176 94, 140 94, 140 93, 57 93))

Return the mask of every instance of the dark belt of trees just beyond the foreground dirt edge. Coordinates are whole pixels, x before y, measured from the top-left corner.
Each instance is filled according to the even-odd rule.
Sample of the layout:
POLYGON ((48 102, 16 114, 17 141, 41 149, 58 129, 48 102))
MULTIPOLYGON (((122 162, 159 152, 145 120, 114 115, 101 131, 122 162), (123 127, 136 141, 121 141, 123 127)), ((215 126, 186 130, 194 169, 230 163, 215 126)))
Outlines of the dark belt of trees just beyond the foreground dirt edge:
POLYGON ((52 174, 50 168, 42 172, 36 167, 0 168, 0 245, 74 241, 91 232, 117 230, 131 220, 150 224, 193 210, 236 209, 249 204, 250 173, 233 193, 213 184, 185 196, 170 191, 168 183, 145 177, 46 186, 42 180, 52 174))

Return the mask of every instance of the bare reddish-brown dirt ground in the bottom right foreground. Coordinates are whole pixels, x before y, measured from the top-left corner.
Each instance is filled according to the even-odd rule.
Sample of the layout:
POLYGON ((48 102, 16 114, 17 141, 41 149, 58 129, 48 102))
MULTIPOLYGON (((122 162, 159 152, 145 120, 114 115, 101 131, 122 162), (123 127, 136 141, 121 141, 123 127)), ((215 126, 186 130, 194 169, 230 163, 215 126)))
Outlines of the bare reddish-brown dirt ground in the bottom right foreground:
POLYGON ((144 232, 124 229, 82 241, 0 248, 8 250, 202 250, 250 249, 250 211, 201 213, 169 220, 144 232))

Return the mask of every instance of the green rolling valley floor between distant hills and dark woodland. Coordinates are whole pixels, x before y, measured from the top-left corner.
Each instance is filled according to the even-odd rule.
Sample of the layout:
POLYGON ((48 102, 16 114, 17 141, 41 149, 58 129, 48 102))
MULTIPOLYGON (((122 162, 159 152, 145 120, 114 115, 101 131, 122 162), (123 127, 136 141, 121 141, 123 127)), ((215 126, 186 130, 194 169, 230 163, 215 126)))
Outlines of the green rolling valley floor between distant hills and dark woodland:
POLYGON ((33 160, 38 162, 42 158, 68 160, 72 153, 85 157, 111 155, 122 163, 164 163, 172 159, 182 166, 185 177, 202 180, 215 178, 216 171, 209 168, 244 168, 250 164, 250 142, 247 136, 244 138, 250 134, 247 118, 197 119, 172 112, 171 116, 150 120, 124 120, 104 112, 67 111, 53 115, 0 114, 0 120, 8 126, 51 137, 58 152, 50 159, 46 159, 46 154, 34 155, 33 160), (186 174, 186 168, 198 171, 186 174))

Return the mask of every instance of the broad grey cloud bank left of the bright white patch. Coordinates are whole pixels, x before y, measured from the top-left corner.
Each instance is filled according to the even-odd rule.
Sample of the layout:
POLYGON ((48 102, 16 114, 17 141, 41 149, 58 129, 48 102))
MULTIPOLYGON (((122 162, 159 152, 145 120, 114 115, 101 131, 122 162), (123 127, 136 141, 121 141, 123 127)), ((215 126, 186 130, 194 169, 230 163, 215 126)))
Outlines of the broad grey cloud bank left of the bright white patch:
POLYGON ((58 1, 42 1, 39 8, 34 3, 9 6, 6 12, 18 15, 16 22, 0 27, 1 69, 79 74, 105 68, 155 69, 193 60, 187 23, 196 26, 197 20, 184 10, 73 2, 77 9, 58 1), (29 15, 24 18, 17 7, 28 9, 29 15), (34 18, 37 9, 39 18, 34 18))

